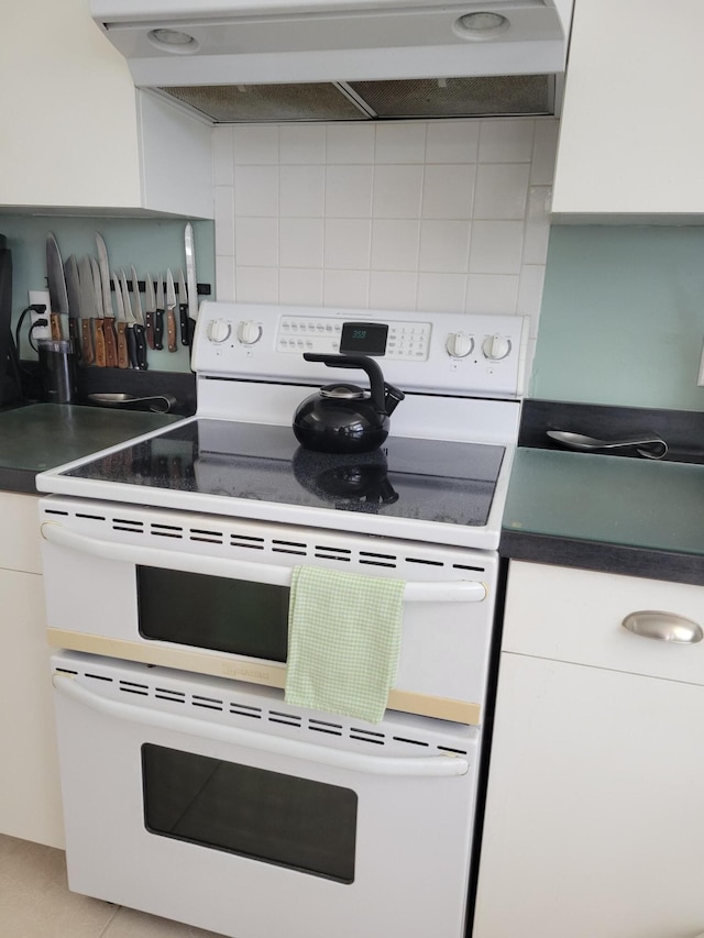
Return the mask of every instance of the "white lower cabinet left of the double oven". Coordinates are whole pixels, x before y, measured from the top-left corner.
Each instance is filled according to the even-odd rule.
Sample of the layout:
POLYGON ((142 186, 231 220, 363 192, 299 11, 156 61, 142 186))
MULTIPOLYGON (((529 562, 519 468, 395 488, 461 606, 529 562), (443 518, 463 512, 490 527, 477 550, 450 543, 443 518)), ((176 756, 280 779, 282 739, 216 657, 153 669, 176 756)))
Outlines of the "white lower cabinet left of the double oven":
POLYGON ((0 834, 63 848, 37 501, 0 493, 0 834))

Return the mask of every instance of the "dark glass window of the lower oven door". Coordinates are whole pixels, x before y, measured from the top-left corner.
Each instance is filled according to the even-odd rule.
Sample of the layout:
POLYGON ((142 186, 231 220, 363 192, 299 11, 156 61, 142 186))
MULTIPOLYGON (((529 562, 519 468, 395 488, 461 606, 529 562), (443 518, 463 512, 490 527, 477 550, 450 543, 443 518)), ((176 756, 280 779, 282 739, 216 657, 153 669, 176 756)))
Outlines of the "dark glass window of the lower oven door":
POLYGON ((354 881, 358 796, 350 788, 142 746, 152 834, 354 881))

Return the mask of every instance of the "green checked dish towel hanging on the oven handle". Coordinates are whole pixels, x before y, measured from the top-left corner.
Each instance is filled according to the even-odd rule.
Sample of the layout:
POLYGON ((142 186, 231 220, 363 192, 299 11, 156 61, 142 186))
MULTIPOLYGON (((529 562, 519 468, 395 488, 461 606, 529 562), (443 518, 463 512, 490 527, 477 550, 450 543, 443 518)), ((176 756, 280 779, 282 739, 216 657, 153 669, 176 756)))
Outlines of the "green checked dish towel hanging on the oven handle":
POLYGON ((396 680, 404 587, 399 580, 295 567, 286 703, 380 722, 396 680))

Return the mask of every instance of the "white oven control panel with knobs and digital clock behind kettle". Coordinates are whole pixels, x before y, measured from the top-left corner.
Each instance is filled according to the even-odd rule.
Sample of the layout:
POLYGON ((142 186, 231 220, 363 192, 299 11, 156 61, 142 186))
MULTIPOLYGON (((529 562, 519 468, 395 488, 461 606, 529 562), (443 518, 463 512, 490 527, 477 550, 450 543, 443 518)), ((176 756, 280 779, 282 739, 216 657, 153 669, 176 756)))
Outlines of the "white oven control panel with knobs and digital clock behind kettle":
POLYGON ((201 375, 317 385, 333 369, 305 353, 369 355, 404 390, 517 397, 527 336, 520 316, 205 301, 191 364, 201 375))

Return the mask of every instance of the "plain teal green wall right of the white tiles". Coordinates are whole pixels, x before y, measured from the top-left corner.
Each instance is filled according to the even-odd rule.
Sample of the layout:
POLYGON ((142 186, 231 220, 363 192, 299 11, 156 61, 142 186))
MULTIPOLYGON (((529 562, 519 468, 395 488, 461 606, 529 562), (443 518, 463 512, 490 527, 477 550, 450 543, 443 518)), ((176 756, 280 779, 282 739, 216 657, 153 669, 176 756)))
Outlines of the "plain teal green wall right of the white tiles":
POLYGON ((529 396, 704 410, 704 228, 553 227, 529 396))

